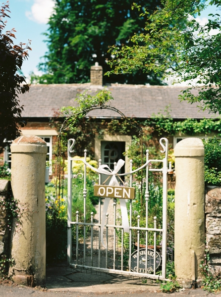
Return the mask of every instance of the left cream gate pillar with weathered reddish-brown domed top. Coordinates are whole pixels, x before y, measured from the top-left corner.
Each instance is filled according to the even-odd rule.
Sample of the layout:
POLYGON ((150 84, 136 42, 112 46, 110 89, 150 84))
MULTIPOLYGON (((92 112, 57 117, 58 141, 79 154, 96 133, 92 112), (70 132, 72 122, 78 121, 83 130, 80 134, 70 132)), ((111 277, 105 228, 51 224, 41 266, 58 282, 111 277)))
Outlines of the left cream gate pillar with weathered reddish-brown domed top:
POLYGON ((9 274, 24 286, 45 285, 45 168, 46 142, 37 136, 20 136, 11 145, 11 187, 19 200, 20 223, 12 234, 9 274))

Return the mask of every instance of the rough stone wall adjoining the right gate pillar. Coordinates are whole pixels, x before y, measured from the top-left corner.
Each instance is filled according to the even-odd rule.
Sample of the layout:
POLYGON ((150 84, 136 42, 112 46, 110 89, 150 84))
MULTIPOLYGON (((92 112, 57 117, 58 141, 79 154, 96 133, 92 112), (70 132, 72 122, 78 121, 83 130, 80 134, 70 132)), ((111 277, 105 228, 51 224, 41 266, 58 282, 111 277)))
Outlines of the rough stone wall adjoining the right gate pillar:
POLYGON ((209 248, 209 266, 214 274, 221 273, 221 188, 206 189, 206 244, 209 248))

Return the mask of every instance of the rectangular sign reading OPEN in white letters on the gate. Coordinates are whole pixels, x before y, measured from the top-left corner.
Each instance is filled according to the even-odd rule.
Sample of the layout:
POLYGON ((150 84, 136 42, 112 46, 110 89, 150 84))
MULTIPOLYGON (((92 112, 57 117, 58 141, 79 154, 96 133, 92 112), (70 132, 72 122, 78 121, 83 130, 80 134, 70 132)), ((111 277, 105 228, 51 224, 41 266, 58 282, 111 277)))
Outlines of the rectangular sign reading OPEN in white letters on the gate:
POLYGON ((134 199, 135 188, 95 185, 94 196, 120 198, 120 199, 134 199))

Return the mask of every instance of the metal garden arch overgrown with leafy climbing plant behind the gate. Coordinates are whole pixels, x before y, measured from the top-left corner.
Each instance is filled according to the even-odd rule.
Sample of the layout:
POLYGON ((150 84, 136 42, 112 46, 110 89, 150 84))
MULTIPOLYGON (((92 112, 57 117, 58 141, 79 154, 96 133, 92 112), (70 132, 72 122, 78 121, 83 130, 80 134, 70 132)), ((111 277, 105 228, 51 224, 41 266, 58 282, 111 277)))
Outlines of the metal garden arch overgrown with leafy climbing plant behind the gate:
MULTIPOLYGON (((60 197, 61 189, 63 188, 63 178, 64 178, 64 159, 66 157, 67 151, 67 141, 70 136, 76 138, 77 134, 82 133, 82 128, 79 129, 79 125, 88 125, 89 123, 86 121, 85 116, 92 110, 96 109, 109 109, 112 110, 124 119, 131 129, 134 130, 135 134, 137 134, 140 138, 140 154, 141 154, 141 164, 143 164, 143 146, 142 146, 142 127, 136 125, 132 120, 128 119, 120 110, 110 105, 110 101, 113 100, 110 91, 104 88, 101 91, 97 91, 94 96, 90 94, 87 90, 83 94, 78 94, 76 101, 78 102, 77 107, 69 106, 63 107, 61 109, 61 114, 59 117, 65 116, 63 123, 60 125, 59 133, 58 133, 58 141, 56 148, 56 162, 55 162, 55 185, 56 185, 56 196, 58 200, 58 209, 60 206, 60 197)), ((84 129, 83 129, 84 130, 84 129)), ((94 138, 95 134, 98 133, 101 135, 100 126, 92 124, 91 134, 94 138)), ((90 137, 88 135, 88 137, 90 137)), ((81 145, 84 150, 84 142, 86 140, 87 144, 87 135, 81 134, 79 137, 79 145, 81 145), (83 141, 84 138, 84 141, 83 141), (82 141, 82 142, 81 142, 82 141)))

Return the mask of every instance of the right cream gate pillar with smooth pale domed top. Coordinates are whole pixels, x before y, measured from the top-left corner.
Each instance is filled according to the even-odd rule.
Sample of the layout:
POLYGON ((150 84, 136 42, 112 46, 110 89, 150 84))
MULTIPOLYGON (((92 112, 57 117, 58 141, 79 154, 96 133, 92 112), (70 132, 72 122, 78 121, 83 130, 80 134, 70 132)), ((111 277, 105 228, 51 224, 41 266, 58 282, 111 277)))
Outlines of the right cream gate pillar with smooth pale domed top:
POLYGON ((175 155, 175 248, 177 281, 184 288, 201 279, 205 253, 204 145, 187 138, 174 148, 175 155))

